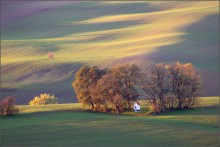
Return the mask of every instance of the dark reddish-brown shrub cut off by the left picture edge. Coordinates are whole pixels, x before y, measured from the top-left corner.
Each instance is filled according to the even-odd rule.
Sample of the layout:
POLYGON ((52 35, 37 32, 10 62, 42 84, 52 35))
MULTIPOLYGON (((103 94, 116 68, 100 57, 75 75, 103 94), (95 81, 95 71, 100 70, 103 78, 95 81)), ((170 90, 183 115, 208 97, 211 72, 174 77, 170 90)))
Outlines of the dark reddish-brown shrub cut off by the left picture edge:
POLYGON ((15 98, 14 97, 6 97, 0 101, 0 114, 1 115, 13 115, 17 114, 19 109, 15 107, 15 98))

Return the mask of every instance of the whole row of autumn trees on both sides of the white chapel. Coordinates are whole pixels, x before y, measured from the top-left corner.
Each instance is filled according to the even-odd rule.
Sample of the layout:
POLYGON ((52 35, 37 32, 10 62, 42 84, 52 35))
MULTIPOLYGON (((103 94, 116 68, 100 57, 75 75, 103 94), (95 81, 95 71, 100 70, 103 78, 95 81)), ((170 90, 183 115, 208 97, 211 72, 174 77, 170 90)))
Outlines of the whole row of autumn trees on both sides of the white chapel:
POLYGON ((192 64, 156 64, 148 74, 135 65, 110 69, 82 66, 75 74, 77 99, 94 111, 131 111, 140 96, 155 113, 188 109, 196 103, 201 78, 192 64))

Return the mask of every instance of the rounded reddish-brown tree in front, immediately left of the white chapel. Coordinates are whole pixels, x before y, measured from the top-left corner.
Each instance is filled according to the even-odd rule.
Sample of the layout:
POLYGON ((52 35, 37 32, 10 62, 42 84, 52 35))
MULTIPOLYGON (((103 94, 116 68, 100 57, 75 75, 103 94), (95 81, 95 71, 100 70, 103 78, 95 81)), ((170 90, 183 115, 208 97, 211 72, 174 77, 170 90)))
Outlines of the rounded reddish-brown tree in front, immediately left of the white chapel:
POLYGON ((91 86, 91 97, 96 105, 97 111, 123 111, 125 99, 122 96, 123 83, 112 73, 104 75, 97 84, 91 86))

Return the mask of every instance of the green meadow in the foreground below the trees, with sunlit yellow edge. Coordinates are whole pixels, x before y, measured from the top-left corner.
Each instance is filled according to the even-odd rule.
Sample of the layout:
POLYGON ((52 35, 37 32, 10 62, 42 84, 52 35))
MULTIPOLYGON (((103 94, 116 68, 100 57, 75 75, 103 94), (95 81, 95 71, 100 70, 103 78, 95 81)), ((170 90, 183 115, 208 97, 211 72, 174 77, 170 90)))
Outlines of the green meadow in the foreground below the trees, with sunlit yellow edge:
POLYGON ((89 112, 80 104, 20 105, 1 118, 1 145, 11 146, 219 146, 219 98, 199 99, 192 110, 149 115, 89 112))

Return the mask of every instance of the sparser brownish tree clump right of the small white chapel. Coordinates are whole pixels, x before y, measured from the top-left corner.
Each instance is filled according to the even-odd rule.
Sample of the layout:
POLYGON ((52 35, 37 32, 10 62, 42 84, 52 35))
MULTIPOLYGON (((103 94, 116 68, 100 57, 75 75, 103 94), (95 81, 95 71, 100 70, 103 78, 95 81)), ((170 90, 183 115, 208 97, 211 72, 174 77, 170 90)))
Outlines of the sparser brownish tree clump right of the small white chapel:
POLYGON ((157 64, 141 88, 146 92, 154 112, 188 109, 197 101, 201 78, 191 63, 157 64))

